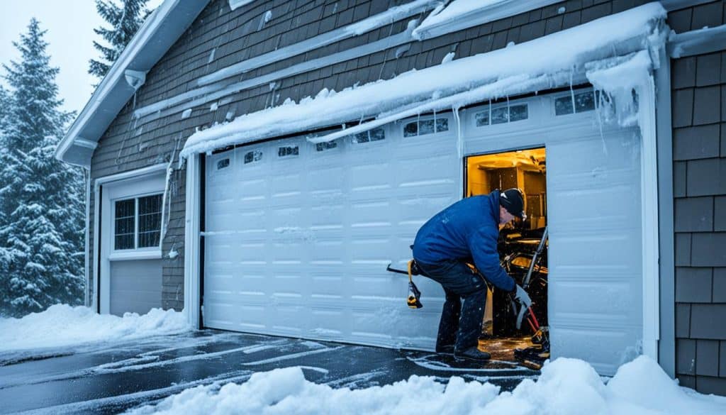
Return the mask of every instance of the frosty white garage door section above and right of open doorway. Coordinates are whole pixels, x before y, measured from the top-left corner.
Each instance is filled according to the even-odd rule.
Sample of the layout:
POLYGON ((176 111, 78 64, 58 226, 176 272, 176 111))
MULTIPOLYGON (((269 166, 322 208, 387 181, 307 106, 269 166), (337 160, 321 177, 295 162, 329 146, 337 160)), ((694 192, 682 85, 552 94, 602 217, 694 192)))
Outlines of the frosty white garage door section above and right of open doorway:
POLYGON ((544 145, 552 358, 614 374, 643 339, 641 140, 636 128, 600 122, 592 97, 581 90, 513 100, 470 108, 462 119, 467 154, 544 145), (480 114, 507 105, 522 121, 478 125, 480 114))

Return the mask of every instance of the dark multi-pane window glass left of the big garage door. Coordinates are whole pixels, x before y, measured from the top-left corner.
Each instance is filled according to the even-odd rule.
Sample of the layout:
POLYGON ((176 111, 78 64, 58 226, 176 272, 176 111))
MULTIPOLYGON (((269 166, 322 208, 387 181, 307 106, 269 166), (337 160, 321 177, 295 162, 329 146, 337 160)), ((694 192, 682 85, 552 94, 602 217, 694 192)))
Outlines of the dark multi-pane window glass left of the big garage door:
POLYGON ((115 202, 113 249, 159 246, 162 195, 123 199, 115 202))

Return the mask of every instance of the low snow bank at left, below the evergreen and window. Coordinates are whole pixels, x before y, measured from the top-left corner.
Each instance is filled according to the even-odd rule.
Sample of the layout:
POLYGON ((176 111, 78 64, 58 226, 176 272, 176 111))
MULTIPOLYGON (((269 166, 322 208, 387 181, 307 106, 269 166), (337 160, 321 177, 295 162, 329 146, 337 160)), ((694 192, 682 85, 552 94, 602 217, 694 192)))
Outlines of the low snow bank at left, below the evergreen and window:
POLYGON ((53 305, 23 318, 0 318, 0 352, 138 339, 191 329, 184 314, 174 310, 154 308, 144 315, 118 317, 94 313, 89 307, 53 305))

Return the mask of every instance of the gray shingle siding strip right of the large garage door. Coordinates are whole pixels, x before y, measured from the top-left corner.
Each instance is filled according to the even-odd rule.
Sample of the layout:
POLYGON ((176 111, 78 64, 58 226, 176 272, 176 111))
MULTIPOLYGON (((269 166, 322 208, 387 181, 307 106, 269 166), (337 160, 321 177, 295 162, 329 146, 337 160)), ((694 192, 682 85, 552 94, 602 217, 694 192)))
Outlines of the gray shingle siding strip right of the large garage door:
MULTIPOLYGON (((724 23, 726 1, 669 13, 677 33, 724 23)), ((726 48, 725 48, 726 49, 726 48)), ((726 395, 726 51, 672 61, 677 377, 726 395)))

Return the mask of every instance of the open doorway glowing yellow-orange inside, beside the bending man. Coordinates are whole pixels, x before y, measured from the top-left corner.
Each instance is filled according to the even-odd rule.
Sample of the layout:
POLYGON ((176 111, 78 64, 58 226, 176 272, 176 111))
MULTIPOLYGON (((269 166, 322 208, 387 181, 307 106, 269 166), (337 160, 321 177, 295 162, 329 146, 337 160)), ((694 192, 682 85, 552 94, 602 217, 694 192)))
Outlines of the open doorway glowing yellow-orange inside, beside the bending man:
POLYGON ((507 273, 526 287, 531 315, 520 315, 509 294, 490 285, 480 349, 507 360, 538 366, 549 358, 547 332, 547 159, 544 148, 513 150, 466 158, 465 197, 519 188, 525 197, 525 219, 499 230, 499 257, 507 273), (533 317, 534 316, 534 317, 533 317))

